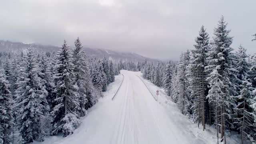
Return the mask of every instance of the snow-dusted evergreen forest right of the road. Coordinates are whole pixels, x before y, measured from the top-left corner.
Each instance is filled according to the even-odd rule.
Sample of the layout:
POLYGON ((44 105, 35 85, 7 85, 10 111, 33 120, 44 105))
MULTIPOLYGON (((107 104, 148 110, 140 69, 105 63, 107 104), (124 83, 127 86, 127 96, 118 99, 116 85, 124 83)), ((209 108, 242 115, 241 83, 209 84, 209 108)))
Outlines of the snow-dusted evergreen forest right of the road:
POLYGON ((213 125, 221 142, 235 131, 241 144, 256 144, 256 55, 242 45, 234 51, 229 33, 223 16, 212 40, 202 26, 194 48, 182 52, 178 62, 145 61, 143 77, 162 86, 202 130, 213 125))

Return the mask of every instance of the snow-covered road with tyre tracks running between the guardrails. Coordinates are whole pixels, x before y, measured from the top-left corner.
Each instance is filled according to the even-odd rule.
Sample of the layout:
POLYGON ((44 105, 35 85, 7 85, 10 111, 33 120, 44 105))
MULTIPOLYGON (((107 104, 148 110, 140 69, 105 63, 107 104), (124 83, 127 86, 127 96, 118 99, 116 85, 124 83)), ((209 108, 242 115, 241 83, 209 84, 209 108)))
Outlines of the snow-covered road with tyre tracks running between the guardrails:
POLYGON ((143 82, 134 72, 122 72, 124 83, 114 100, 117 111, 116 121, 110 132, 112 133, 110 143, 184 143, 183 134, 170 122, 164 108, 154 100, 143 82))

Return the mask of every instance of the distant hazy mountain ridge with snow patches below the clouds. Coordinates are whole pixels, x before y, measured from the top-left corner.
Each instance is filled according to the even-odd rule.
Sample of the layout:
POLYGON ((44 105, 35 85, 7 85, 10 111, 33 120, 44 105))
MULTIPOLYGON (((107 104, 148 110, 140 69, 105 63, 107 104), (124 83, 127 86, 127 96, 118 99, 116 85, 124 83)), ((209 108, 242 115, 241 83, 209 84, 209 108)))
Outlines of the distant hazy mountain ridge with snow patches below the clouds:
MULTIPOLYGON (((60 49, 60 47, 58 46, 50 46, 50 45, 42 45, 42 44, 27 44, 22 42, 10 42, 10 41, 0 40, 0 51, 18 53, 21 51, 25 51, 29 45, 35 48, 35 50, 38 52, 41 52, 41 51, 56 52, 60 49)), ((96 58, 103 58, 104 56, 106 56, 106 58, 112 60, 113 62, 118 62, 120 59, 126 62, 128 61, 144 62, 145 59, 154 63, 160 61, 154 58, 147 58, 136 53, 116 52, 113 50, 106 50, 106 49, 100 49, 100 48, 84 48, 84 51, 86 52, 87 56, 96 57, 96 58)))

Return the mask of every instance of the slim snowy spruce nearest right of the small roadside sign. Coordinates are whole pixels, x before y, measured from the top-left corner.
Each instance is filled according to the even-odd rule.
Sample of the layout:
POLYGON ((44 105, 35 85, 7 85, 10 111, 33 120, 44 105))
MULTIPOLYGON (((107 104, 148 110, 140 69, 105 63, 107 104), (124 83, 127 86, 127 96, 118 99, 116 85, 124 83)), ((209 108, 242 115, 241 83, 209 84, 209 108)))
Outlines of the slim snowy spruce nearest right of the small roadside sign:
POLYGON ((173 78, 173 65, 172 61, 169 60, 164 70, 163 87, 164 91, 168 96, 171 96, 172 78, 173 78))

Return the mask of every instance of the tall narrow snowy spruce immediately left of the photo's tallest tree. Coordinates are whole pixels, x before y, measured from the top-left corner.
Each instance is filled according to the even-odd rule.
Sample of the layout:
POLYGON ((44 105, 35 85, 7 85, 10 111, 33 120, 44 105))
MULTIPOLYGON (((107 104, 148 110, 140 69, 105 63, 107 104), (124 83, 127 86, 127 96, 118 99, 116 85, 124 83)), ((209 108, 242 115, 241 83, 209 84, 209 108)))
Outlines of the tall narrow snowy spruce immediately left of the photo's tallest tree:
POLYGON ((191 50, 190 71, 191 71, 191 97, 194 99, 193 109, 194 118, 197 118, 198 124, 202 121, 203 130, 205 129, 206 112, 206 58, 209 50, 209 36, 204 26, 200 28, 199 36, 195 39, 194 49, 191 50))

